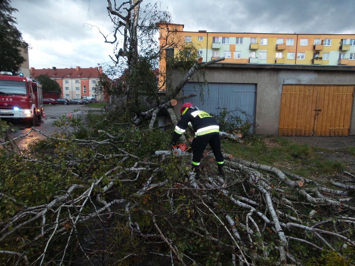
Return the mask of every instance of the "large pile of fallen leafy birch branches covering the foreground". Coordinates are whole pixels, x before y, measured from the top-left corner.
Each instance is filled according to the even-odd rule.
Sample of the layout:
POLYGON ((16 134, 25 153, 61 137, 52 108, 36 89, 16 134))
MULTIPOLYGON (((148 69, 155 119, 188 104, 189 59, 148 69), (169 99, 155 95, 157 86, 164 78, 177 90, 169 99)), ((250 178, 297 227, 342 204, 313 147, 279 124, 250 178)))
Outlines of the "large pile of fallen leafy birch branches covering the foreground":
POLYGON ((26 152, 5 132, 3 263, 354 263, 351 176, 324 185, 225 154, 222 178, 206 153, 195 180, 190 156, 154 154, 168 147, 171 132, 143 131, 112 115, 91 119, 84 126, 63 118, 62 132, 26 152))

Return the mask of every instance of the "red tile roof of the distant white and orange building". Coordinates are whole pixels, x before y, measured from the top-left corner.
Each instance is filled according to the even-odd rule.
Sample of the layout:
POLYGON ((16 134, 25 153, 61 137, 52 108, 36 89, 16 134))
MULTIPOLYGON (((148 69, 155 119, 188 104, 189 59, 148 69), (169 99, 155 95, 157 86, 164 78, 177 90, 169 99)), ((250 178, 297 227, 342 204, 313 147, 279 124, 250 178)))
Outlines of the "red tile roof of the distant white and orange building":
POLYGON ((102 74, 102 67, 89 67, 89 68, 43 68, 35 69, 31 67, 30 69, 31 78, 37 77, 39 75, 47 75, 50 78, 99 78, 102 74))

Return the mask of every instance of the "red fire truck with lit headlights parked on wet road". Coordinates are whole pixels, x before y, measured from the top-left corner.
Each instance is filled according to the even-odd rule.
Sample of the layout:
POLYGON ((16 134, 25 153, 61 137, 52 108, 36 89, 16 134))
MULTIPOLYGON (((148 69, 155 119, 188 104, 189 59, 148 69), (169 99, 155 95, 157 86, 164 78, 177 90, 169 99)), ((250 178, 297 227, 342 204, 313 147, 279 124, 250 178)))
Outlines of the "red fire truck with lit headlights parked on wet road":
POLYGON ((20 74, 0 72, 0 118, 40 123, 43 113, 42 84, 20 74))

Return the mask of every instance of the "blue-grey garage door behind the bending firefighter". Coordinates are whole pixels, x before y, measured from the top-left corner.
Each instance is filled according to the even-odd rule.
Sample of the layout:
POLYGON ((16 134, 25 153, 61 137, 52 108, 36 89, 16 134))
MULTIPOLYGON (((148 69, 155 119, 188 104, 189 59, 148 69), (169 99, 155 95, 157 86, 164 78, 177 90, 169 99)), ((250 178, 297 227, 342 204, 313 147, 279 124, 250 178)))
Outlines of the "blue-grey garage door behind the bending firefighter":
MULTIPOLYGON (((197 96, 184 100, 184 103, 191 102, 199 109, 214 115, 219 115, 224 109, 233 111, 233 116, 255 124, 256 84, 208 83, 208 87, 203 87, 203 100, 200 99, 200 92, 198 83, 187 83, 182 88, 183 95, 197 96)), ((251 131, 254 130, 253 127, 251 131)))

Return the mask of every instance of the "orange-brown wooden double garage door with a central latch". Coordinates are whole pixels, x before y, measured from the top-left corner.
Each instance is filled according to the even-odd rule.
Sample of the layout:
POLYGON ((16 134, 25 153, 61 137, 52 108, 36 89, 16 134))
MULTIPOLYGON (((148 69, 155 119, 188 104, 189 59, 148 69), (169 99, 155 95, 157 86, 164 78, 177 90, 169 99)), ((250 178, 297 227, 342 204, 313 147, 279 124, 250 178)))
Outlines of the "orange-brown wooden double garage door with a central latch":
POLYGON ((354 86, 283 85, 279 135, 347 136, 354 86))

